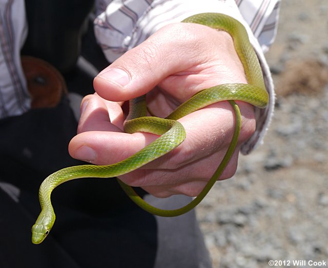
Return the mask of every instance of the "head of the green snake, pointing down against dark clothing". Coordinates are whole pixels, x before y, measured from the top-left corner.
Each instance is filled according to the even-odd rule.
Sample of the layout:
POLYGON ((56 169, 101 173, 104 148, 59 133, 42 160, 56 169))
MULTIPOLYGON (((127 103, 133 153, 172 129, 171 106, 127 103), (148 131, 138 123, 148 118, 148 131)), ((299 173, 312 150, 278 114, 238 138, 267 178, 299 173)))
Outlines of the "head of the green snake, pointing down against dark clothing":
POLYGON ((32 243, 33 244, 39 244, 41 243, 43 240, 45 240, 45 238, 47 237, 47 235, 49 234, 53 224, 54 224, 54 215, 43 215, 43 213, 41 213, 35 224, 32 226, 32 243))

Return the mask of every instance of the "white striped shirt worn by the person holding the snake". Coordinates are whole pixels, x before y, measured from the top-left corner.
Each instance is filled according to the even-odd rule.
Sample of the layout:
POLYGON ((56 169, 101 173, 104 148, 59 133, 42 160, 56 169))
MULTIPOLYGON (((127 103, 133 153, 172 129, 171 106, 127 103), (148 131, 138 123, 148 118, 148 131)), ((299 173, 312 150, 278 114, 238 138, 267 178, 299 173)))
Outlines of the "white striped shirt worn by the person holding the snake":
MULTIPOLYGON (((156 30, 202 12, 225 13, 247 29, 261 62, 270 95, 266 109, 257 111, 257 130, 242 148, 261 142, 271 120, 274 91, 263 52, 274 41, 280 0, 97 0, 95 35, 109 62, 147 39, 156 30)), ((24 0, 0 0, 0 119, 30 108, 20 49, 27 36, 24 0)))

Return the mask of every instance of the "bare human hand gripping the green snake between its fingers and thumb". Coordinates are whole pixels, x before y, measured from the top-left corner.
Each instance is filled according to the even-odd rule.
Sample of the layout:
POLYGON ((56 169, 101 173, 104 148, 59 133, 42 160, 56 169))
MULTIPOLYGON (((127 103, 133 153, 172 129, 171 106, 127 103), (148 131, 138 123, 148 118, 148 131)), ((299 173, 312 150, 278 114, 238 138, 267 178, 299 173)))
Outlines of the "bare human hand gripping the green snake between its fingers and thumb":
MULTIPOLYGON (((86 96, 81 104, 83 113, 70 154, 97 165, 126 159, 157 136, 122 131, 124 101, 147 93, 150 110, 166 117, 196 92, 223 83, 247 83, 229 34, 196 24, 163 27, 95 78, 97 94, 86 96)), ((240 146, 255 130, 253 106, 238 105, 242 115, 238 146, 220 180, 235 173, 240 146)), ((230 144, 234 114, 229 103, 219 102, 178 121, 186 129, 186 140, 120 180, 158 197, 198 195, 230 144)))

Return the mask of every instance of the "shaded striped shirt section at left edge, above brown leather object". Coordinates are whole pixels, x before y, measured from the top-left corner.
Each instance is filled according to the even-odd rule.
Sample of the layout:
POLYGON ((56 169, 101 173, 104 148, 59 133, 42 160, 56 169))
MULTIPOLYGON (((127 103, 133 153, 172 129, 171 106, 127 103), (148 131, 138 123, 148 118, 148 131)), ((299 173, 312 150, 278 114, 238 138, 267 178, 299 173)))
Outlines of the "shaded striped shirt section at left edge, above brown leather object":
POLYGON ((27 35, 24 0, 0 1, 0 118, 30 108, 20 49, 27 35))

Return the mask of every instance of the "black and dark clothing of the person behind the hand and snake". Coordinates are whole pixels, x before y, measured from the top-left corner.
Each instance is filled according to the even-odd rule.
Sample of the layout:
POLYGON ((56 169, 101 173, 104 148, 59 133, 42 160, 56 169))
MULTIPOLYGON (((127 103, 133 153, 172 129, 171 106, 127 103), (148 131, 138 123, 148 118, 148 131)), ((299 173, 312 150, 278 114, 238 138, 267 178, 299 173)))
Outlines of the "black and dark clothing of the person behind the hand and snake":
MULTIPOLYGON (((81 25, 92 2, 26 1, 30 28, 23 52, 55 65, 64 73, 68 90, 83 95, 92 92, 92 77, 76 69, 78 55, 92 59, 99 70, 105 67, 99 48, 93 49, 92 28, 84 37, 87 40, 81 39, 81 25), (63 21, 77 21, 67 14, 76 14, 80 24, 67 28, 63 21), (81 46, 80 40, 84 40, 81 46)), ((0 267, 211 267, 194 212, 155 217, 132 203, 113 178, 79 179, 56 188, 54 227, 42 244, 32 244, 40 183, 58 169, 84 164, 68 154, 76 127, 66 96, 55 108, 33 109, 0 121, 0 267)), ((191 200, 144 197, 162 208, 191 200)))

